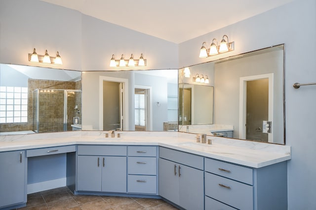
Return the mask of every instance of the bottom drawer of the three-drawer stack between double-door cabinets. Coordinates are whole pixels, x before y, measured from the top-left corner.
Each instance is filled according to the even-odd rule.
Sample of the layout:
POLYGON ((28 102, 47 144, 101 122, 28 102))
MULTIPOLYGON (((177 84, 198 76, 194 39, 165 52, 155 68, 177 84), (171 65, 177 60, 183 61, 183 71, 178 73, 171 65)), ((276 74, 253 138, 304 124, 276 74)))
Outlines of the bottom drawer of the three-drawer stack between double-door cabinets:
POLYGON ((127 192, 157 194, 157 177, 128 175, 127 192))

